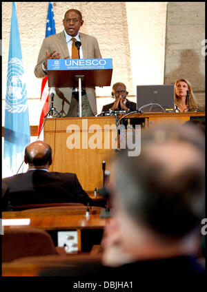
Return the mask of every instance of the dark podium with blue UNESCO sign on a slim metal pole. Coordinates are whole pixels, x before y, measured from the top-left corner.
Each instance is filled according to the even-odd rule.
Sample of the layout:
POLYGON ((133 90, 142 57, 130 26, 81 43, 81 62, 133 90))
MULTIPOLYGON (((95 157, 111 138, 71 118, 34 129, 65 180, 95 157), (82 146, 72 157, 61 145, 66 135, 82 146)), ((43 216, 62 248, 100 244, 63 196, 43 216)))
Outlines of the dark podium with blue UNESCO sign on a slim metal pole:
POLYGON ((49 59, 48 86, 79 88, 81 117, 81 87, 110 86, 112 59, 49 59))

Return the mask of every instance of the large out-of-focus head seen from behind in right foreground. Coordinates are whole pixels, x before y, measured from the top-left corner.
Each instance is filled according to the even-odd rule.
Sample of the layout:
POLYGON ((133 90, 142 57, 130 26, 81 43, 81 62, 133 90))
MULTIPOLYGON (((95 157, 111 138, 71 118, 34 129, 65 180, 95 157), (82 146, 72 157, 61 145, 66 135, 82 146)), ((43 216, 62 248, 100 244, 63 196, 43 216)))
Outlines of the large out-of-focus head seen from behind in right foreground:
POLYGON ((130 218, 167 245, 197 236, 204 217, 204 149, 197 127, 166 124, 141 136, 139 156, 121 151, 110 185, 118 218, 124 214, 121 228, 130 218))

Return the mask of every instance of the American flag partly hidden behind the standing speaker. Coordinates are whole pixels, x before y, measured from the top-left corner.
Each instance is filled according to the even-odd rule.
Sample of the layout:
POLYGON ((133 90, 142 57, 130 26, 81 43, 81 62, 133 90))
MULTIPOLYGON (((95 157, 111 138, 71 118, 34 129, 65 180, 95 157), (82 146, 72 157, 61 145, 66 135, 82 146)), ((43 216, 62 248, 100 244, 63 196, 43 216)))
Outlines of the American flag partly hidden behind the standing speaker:
MULTIPOLYGON (((55 18, 52 8, 52 2, 49 2, 48 4, 48 17, 47 17, 47 23, 46 23, 46 37, 51 36, 52 34, 56 34, 55 32, 55 18)), ((38 127, 38 136, 41 131, 41 127, 43 125, 43 118, 46 116, 49 110, 48 105, 48 97, 49 97, 49 91, 48 91, 48 76, 43 78, 41 83, 41 116, 39 118, 39 127, 38 127)))

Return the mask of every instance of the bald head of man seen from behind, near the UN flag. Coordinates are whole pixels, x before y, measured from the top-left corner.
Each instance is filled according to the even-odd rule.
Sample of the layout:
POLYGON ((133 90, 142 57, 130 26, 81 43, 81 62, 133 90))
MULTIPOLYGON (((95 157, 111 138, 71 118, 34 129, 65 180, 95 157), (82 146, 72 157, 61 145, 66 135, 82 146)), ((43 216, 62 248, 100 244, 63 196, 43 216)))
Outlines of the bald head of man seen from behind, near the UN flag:
POLYGON ((30 143, 25 149, 25 163, 29 168, 48 168, 52 163, 52 149, 43 141, 30 143))

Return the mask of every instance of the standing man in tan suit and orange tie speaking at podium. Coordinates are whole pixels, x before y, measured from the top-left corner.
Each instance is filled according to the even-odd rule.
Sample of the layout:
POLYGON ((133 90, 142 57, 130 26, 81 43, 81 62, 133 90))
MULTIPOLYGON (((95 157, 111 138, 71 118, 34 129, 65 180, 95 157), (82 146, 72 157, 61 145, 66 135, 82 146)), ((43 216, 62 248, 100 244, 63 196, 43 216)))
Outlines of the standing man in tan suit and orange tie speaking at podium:
MULTIPOLYGON (((37 78, 44 78, 47 73, 48 59, 101 59, 99 44, 94 36, 83 34, 79 29, 83 19, 79 10, 70 9, 63 19, 63 32, 48 36, 43 40, 39 52, 34 74, 37 78), (75 42, 81 42, 78 51, 75 42)), ((55 88, 54 107, 61 116, 78 116, 79 92, 77 88, 55 88)), ((95 87, 82 88, 81 116, 95 116, 97 103, 95 87)), ((49 105, 51 99, 49 96, 49 105)))

